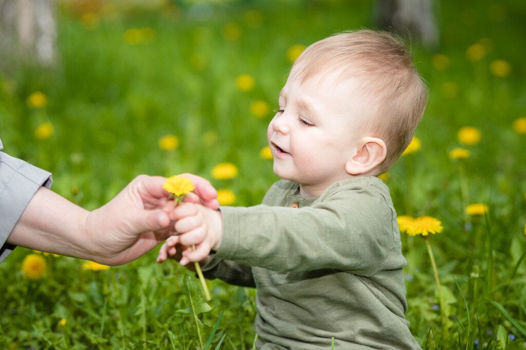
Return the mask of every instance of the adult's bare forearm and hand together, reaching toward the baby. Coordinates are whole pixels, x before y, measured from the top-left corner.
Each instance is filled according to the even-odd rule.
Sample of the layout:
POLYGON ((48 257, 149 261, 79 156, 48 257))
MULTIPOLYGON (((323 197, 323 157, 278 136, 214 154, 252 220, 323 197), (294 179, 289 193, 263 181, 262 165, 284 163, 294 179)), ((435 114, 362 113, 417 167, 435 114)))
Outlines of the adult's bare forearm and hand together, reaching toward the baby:
MULTIPOLYGON (((184 174, 194 203, 217 208, 217 192, 205 179, 184 174)), ((41 187, 7 242, 13 245, 118 265, 137 259, 174 231, 165 208, 164 177, 140 175, 106 205, 91 212, 41 187)), ((168 209, 167 209, 168 210, 168 209)))

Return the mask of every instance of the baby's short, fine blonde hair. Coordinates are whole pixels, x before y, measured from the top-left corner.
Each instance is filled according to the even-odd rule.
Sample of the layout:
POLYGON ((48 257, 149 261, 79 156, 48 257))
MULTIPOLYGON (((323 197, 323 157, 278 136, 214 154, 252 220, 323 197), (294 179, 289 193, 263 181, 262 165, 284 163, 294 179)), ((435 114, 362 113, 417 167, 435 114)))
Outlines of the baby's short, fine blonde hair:
POLYGON ((300 83, 335 71, 341 79, 360 79, 359 93, 369 107, 360 127, 387 146, 377 174, 386 172, 409 145, 426 108, 427 86, 406 46, 389 33, 358 30, 317 41, 302 52, 292 71, 300 83))

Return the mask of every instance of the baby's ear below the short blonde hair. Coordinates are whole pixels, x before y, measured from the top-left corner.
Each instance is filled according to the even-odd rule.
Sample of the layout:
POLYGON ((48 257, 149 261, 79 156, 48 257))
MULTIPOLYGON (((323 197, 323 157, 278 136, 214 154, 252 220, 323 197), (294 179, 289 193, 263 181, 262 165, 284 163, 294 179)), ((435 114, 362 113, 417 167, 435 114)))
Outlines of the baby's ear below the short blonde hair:
POLYGON ((383 162, 387 155, 386 143, 378 137, 364 137, 360 140, 355 154, 352 154, 345 164, 349 175, 365 175, 375 166, 383 162))

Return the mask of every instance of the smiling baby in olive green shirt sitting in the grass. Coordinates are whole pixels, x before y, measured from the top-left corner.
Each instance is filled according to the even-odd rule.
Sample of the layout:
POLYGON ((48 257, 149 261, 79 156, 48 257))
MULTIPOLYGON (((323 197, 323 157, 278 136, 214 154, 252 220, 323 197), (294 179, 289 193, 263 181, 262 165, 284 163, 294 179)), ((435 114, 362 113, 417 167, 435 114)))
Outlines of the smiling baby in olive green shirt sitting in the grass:
POLYGON ((341 33, 296 60, 268 127, 274 172, 262 205, 171 215, 181 264, 257 288, 262 349, 420 348, 408 322, 400 233, 386 172, 412 139, 428 92, 387 33, 341 33), (186 247, 196 246, 195 251, 186 247))

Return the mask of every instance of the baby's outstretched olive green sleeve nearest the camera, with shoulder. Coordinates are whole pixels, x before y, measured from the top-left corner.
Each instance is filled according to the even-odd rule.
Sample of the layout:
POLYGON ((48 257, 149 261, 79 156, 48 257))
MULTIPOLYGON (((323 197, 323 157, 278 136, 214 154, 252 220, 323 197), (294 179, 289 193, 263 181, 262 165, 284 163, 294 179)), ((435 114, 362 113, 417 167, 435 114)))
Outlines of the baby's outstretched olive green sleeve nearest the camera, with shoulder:
POLYGON ((217 257, 274 271, 338 269, 364 276, 405 263, 401 255, 390 257, 400 242, 388 193, 370 190, 374 186, 360 178, 333 184, 313 203, 277 195, 290 186, 273 186, 264 200, 268 205, 221 207, 224 234, 217 257))

